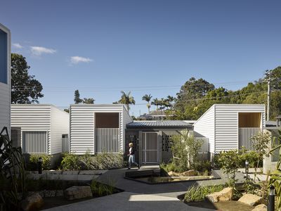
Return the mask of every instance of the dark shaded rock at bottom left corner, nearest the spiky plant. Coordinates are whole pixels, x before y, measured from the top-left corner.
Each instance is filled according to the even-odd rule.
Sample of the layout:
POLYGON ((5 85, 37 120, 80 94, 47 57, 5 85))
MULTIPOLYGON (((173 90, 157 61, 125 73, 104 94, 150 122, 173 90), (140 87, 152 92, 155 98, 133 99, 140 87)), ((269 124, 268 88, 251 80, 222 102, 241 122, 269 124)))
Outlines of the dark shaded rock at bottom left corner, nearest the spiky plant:
POLYGON ((30 211, 30 210, 39 210, 44 205, 44 200, 40 196, 39 193, 33 193, 31 196, 22 200, 21 207, 22 210, 30 211))

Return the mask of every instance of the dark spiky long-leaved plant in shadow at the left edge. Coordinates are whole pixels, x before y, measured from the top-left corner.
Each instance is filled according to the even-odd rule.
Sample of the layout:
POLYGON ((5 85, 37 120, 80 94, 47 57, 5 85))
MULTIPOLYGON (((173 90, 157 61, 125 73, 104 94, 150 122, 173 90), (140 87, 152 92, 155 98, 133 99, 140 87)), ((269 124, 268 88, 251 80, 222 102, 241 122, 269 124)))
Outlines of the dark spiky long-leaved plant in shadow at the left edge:
POLYGON ((6 127, 0 132, 0 167, 0 210, 19 210, 25 198, 25 160, 21 148, 12 146, 6 127))

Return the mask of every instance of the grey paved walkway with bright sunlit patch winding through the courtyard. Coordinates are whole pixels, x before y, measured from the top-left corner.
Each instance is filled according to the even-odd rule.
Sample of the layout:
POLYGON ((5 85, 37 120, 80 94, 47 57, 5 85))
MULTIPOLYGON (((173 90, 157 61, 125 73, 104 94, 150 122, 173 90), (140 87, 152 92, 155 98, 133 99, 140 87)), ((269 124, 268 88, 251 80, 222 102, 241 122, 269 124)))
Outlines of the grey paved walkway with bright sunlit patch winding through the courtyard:
MULTIPOLYGON (((145 168, 145 167, 143 167, 145 168)), ((207 186, 212 184, 224 184, 226 175, 221 171, 217 173, 222 179, 207 181, 185 181, 170 184, 144 184, 138 181, 124 179, 126 169, 109 170, 97 178, 98 181, 113 185, 124 190, 122 193, 113 194, 101 198, 93 198, 79 203, 72 203, 48 210, 190 210, 208 211, 208 209, 191 207, 178 200, 177 196, 186 192, 189 186, 200 184, 207 186)), ((237 174, 238 181, 243 180, 244 175, 237 174)), ((210 210, 209 210, 210 211, 210 210)))

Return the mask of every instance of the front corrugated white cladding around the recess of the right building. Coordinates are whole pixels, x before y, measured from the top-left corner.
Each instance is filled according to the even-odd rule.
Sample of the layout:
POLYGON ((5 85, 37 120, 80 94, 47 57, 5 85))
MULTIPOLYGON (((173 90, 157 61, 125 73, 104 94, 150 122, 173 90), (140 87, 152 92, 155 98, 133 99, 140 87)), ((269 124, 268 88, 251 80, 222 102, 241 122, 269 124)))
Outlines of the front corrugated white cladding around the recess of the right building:
POLYGON ((216 131, 215 151, 227 151, 238 148, 238 113, 261 113, 261 128, 265 127, 264 105, 215 105, 216 131))

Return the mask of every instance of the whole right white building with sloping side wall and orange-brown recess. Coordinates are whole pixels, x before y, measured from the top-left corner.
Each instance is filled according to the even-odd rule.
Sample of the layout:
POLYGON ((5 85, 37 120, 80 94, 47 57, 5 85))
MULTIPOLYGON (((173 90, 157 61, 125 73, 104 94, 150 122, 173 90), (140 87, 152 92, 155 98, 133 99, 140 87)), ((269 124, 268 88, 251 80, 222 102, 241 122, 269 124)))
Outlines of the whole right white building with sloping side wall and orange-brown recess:
POLYGON ((195 136, 209 139, 209 152, 253 150, 251 137, 265 127, 265 106, 214 104, 194 124, 195 136))

